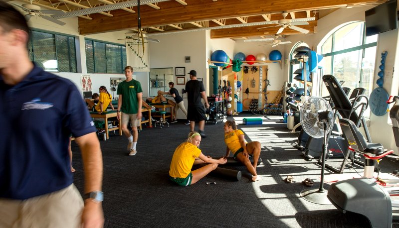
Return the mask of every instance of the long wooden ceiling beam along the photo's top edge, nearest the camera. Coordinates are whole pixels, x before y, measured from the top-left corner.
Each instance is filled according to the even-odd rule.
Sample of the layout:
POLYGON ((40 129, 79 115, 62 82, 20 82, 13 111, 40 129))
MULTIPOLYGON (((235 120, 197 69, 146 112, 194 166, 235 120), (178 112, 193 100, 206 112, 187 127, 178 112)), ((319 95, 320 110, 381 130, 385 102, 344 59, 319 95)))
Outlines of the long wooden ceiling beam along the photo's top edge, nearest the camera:
MULTIPOLYGON (((162 9, 154 10, 143 7, 140 13, 141 25, 148 27, 239 16, 249 17, 268 13, 274 13, 271 15, 271 20, 274 20, 277 16, 281 18, 282 11, 295 11, 296 17, 302 18, 302 16, 298 15, 298 11, 313 11, 318 8, 335 8, 343 7, 347 4, 367 4, 376 1, 378 0, 317 0, 309 4, 308 0, 246 0, 245 5, 243 5, 241 0, 185 0, 188 3, 186 6, 179 6, 176 1, 163 1, 158 4, 162 9)), ((112 13, 114 14, 114 19, 111 20, 98 13, 92 15, 93 20, 91 21, 79 18, 81 34, 86 35, 137 27, 136 14, 132 15, 120 9, 112 10, 112 13)), ((248 22, 249 20, 250 18, 248 18, 248 22)), ((261 20, 264 21, 265 19, 261 18, 261 20)))

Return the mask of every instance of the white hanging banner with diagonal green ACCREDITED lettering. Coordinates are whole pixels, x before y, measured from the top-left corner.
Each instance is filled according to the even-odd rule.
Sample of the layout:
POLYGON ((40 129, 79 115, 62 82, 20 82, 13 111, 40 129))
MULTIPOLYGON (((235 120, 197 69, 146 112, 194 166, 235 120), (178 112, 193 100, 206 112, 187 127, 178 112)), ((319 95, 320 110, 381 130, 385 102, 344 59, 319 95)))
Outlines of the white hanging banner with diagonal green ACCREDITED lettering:
POLYGON ((148 41, 138 37, 137 34, 125 34, 126 61, 133 67, 134 72, 149 72, 148 41), (144 52, 143 52, 144 45, 144 52))

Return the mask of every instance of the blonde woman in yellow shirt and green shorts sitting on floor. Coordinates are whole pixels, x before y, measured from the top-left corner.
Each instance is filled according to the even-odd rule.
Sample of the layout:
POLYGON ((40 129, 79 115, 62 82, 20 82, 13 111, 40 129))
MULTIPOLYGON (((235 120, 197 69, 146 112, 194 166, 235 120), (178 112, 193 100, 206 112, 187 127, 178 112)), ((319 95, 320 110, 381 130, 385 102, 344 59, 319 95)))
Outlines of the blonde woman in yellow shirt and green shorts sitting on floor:
POLYGON ((190 132, 187 142, 180 144, 173 154, 169 176, 173 182, 180 186, 195 184, 206 174, 215 170, 218 164, 225 164, 227 161, 225 158, 216 160, 203 155, 198 148, 200 142, 200 133, 190 132), (202 163, 210 164, 191 171, 193 165, 202 163))

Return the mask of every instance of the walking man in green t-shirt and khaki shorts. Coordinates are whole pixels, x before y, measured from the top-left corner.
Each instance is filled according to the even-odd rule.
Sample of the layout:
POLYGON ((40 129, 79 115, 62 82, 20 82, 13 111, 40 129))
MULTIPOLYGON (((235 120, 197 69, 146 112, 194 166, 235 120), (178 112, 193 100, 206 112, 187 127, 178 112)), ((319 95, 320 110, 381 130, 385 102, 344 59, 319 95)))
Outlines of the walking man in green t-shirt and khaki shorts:
POLYGON ((140 82, 133 79, 133 68, 131 66, 125 67, 125 76, 126 80, 119 83, 116 93, 119 95, 117 117, 121 121, 123 133, 129 139, 129 155, 133 156, 137 153, 136 144, 139 138, 137 127, 140 125, 142 117, 139 107, 141 108, 143 90, 140 82), (129 120, 132 123, 133 135, 130 134, 128 129, 129 120))

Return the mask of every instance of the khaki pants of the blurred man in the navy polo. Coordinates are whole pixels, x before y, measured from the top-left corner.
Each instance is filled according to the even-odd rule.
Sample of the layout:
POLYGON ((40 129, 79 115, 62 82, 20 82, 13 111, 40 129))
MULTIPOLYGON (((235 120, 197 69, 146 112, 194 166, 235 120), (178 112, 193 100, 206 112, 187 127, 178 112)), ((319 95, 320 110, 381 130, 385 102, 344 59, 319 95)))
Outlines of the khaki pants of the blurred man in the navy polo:
POLYGON ((81 227, 83 199, 75 185, 27 200, 0 198, 0 228, 81 227))

